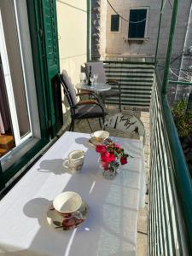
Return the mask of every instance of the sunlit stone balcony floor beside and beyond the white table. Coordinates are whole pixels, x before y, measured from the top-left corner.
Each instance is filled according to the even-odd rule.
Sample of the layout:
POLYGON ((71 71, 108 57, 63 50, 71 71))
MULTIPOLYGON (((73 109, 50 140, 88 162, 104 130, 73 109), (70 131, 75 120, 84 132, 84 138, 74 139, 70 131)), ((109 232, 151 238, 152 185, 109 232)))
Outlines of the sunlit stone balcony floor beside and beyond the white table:
MULTIPOLYGON (((114 106, 108 108, 108 113, 113 115, 118 113, 118 109, 114 106)), ((149 153, 150 153, 150 143, 149 143, 149 113, 145 111, 132 110, 126 108, 122 111, 123 113, 134 113, 139 119, 143 121, 146 131, 146 143, 144 145, 145 154, 145 170, 146 170, 146 184, 148 186, 148 172, 149 172, 149 153)), ((98 119, 90 119, 90 125, 94 131, 101 130, 98 119)), ((90 127, 86 120, 81 120, 75 123, 74 131, 90 133, 90 127)), ((115 131, 114 134, 110 133, 111 136, 123 137, 122 132, 115 131)), ((126 135, 127 137, 127 135, 126 135)), ((131 136, 131 138, 135 138, 131 136)), ((147 188, 146 188, 147 190, 147 188)), ((145 207, 139 210, 138 216, 138 226, 137 226, 137 256, 147 256, 148 255, 148 195, 145 199, 145 207)))

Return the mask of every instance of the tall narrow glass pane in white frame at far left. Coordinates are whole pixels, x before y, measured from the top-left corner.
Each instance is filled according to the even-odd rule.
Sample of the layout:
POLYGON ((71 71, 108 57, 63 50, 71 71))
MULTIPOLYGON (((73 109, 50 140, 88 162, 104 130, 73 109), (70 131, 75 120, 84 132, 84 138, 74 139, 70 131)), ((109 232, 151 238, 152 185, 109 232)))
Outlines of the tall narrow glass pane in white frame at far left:
POLYGON ((20 137, 24 137, 31 129, 26 103, 26 89, 20 57, 20 44, 16 27, 15 10, 12 1, 3 1, 1 9, 20 137))

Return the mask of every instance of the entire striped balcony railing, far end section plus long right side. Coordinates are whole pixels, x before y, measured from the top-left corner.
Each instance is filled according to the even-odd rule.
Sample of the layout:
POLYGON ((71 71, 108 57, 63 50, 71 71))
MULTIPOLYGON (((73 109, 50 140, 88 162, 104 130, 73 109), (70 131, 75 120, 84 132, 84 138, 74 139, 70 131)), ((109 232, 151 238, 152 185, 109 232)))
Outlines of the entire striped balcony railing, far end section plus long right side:
POLYGON ((166 95, 161 94, 160 76, 153 63, 104 61, 104 65, 108 79, 119 81, 122 105, 150 110, 148 256, 191 255, 191 177, 166 95))

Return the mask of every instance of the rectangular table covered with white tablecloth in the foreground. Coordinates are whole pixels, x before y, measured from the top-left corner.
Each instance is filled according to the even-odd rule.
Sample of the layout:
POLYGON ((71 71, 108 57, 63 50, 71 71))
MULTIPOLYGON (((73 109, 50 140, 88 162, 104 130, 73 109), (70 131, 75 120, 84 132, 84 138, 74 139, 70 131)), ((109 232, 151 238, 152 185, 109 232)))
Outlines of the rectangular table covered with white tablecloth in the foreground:
POLYGON ((113 138, 134 158, 107 180, 88 138, 67 131, 0 201, 2 255, 136 255, 137 213, 144 199, 143 143, 113 138), (86 154, 82 171, 72 174, 62 163, 74 149, 86 154), (81 195, 89 217, 75 230, 55 230, 46 214, 55 195, 67 190, 81 195))

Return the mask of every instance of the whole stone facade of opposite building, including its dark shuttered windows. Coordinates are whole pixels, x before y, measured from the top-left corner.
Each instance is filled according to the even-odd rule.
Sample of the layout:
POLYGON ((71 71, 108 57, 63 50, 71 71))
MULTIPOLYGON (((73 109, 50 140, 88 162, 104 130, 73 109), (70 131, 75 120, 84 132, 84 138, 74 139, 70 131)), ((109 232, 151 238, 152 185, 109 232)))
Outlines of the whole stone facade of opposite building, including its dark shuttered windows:
MULTIPOLYGON (((100 2, 100 59, 102 60, 154 61, 161 13, 157 61, 160 73, 163 74, 173 1, 167 0, 163 4, 160 0, 100 0, 100 2), (142 11, 146 14, 144 19, 142 11), (119 25, 113 24, 113 18, 116 19, 117 15, 119 15, 119 25), (119 26, 118 29, 116 27, 113 31, 113 25, 119 26), (143 36, 138 33, 139 38, 137 38, 137 32, 136 37, 131 35, 131 30, 134 34, 134 30, 139 29, 143 29, 143 36)), ((191 6, 191 0, 178 3, 170 72, 173 80, 188 81, 192 76, 191 6)), ((189 87, 170 86, 171 102, 185 95, 189 95, 189 87)))

